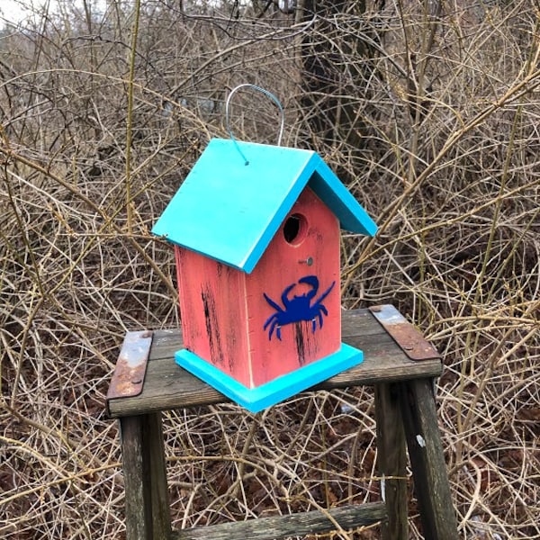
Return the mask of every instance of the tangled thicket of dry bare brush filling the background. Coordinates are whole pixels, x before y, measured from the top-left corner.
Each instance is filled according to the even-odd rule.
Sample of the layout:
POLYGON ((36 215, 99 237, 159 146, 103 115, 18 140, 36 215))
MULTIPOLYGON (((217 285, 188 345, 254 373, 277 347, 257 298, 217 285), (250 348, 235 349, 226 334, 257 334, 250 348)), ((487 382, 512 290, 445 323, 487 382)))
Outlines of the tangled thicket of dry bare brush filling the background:
MULTIPOLYGON (((118 3, 0 38, 0 536, 124 536, 104 395, 126 329, 178 324, 172 256, 149 229, 208 139, 227 136, 227 89, 253 82, 284 103, 285 144, 318 149, 380 225, 373 241, 344 238, 345 307, 393 302, 445 356, 461 535, 540 538, 539 6, 391 1, 332 19, 320 40, 359 148, 346 121, 330 140, 311 132, 328 96, 300 108, 300 38, 317 24, 143 4, 135 55, 118 3), (366 71, 343 44, 374 31, 366 71)), ((275 141, 257 94, 233 115, 238 136, 275 141)), ((235 411, 167 416, 176 526, 378 496, 369 389, 235 411)))

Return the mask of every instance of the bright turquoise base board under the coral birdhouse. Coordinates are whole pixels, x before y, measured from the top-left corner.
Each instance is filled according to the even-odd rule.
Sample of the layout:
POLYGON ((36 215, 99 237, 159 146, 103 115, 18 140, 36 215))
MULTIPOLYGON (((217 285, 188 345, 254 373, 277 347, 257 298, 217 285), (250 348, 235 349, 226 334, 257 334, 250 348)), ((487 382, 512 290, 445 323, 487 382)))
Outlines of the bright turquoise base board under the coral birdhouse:
POLYGON ((304 365, 290 374, 277 377, 269 383, 257 386, 257 388, 247 388, 187 349, 175 353, 177 365, 251 412, 272 407, 315 384, 322 383, 334 375, 361 364, 363 360, 364 353, 362 351, 342 343, 338 352, 332 355, 304 365))

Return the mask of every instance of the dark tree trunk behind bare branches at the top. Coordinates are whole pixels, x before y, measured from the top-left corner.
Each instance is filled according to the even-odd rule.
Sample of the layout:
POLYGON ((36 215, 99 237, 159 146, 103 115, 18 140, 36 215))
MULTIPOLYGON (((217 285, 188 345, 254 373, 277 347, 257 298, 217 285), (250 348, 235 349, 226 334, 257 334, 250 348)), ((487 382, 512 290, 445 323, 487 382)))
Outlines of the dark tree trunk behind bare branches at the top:
MULTIPOLYGON (((375 2, 377 9, 383 1, 375 2)), ((376 76, 378 36, 359 0, 303 0, 296 23, 314 18, 302 37, 300 103, 311 144, 363 146, 369 82, 376 76)))

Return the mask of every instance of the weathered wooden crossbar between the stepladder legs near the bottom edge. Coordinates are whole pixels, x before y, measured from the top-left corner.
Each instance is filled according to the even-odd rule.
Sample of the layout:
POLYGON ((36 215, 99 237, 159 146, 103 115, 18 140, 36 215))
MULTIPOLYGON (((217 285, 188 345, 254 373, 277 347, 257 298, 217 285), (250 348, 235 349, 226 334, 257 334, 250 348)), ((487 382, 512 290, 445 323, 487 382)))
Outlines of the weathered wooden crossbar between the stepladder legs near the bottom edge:
POLYGON ((287 536, 307 536, 328 533, 339 527, 352 529, 372 525, 387 518, 383 502, 350 505, 328 512, 314 510, 288 516, 234 521, 207 527, 193 527, 175 531, 174 540, 277 540, 287 536))

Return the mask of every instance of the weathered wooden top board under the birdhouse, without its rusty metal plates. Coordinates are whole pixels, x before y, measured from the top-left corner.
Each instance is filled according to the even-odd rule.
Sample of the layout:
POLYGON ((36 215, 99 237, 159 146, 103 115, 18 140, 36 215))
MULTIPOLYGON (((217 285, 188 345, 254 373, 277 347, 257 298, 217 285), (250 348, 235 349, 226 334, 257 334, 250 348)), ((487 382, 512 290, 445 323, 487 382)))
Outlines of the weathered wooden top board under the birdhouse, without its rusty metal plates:
MULTIPOLYGON (((363 350, 365 360, 313 390, 433 378, 441 374, 439 358, 410 360, 369 311, 343 311, 341 324, 343 341, 363 350)), ((112 418, 228 401, 220 392, 175 364, 173 356, 179 348, 182 348, 182 335, 178 329, 154 332, 143 391, 137 397, 109 401, 112 418)))

